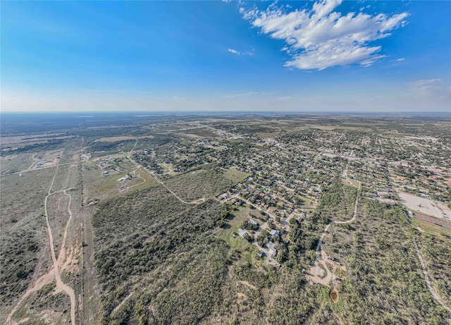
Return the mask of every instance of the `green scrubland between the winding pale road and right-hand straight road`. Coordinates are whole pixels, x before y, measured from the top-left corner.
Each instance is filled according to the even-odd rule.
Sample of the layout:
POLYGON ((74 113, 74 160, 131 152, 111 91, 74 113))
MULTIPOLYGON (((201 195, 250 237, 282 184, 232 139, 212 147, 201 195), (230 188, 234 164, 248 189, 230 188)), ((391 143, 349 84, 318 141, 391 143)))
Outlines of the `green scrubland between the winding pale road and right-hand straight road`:
POLYGON ((349 271, 339 287, 349 324, 443 324, 447 312, 426 288, 401 207, 362 200, 357 221, 335 225, 324 246, 349 271))

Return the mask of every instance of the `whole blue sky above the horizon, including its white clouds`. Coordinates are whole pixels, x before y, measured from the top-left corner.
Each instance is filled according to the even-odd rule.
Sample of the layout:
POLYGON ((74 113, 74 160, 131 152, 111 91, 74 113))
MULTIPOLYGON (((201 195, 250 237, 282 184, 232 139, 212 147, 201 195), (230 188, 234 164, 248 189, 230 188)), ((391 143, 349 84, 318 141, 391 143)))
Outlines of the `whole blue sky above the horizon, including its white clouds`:
POLYGON ((450 1, 2 1, 2 111, 451 111, 450 1))

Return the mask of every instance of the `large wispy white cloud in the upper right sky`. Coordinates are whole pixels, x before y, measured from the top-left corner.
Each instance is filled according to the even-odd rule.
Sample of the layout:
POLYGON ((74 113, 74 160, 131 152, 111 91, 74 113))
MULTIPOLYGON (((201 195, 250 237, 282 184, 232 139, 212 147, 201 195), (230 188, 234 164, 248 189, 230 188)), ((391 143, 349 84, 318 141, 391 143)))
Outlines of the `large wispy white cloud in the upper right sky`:
POLYGON ((274 39, 283 39, 292 59, 285 66, 323 70, 331 66, 359 63, 371 66, 382 59, 380 46, 371 46, 376 39, 406 24, 409 13, 393 16, 378 13, 342 13, 335 8, 342 0, 321 0, 312 8, 289 10, 272 4, 265 11, 257 7, 240 12, 245 20, 259 27, 274 39))

